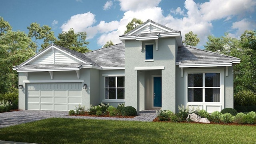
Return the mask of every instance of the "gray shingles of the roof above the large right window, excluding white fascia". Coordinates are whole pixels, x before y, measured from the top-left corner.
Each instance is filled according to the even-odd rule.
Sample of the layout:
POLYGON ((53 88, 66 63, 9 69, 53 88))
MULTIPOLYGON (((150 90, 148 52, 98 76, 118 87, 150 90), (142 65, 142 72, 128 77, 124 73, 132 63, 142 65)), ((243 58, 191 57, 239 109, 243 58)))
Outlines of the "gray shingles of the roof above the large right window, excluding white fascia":
POLYGON ((240 59, 189 46, 179 47, 176 58, 176 62, 181 62, 180 64, 230 63, 232 60, 240 59))

